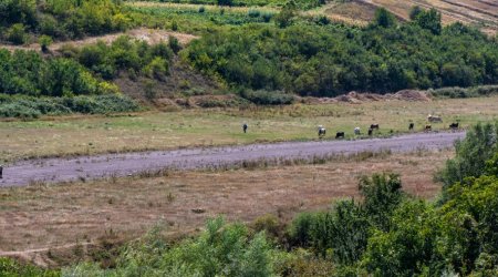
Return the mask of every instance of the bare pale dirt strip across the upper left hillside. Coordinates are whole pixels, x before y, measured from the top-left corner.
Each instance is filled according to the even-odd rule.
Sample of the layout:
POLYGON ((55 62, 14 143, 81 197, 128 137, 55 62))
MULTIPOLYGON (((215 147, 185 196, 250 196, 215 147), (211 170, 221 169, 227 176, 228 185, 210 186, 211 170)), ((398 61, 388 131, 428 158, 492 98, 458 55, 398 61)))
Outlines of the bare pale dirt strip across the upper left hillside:
MULTIPOLYGON (((50 51, 55 52, 60 50, 64 45, 74 45, 74 47, 82 47, 86 44, 94 44, 97 41, 103 41, 106 44, 111 44, 113 41, 115 41, 121 35, 129 35, 132 38, 143 40, 148 42, 149 44, 156 44, 160 41, 168 41, 169 35, 175 37, 180 44, 188 44, 190 41, 197 39, 198 37, 187 33, 179 33, 179 32, 173 32, 173 31, 165 31, 165 30, 158 30, 158 29, 146 29, 146 28, 139 28, 129 30, 126 32, 120 32, 120 33, 113 33, 113 34, 105 34, 100 37, 90 37, 83 40, 75 40, 75 41, 62 41, 62 42, 55 42, 52 45, 50 45, 50 51)), ((34 51, 41 51, 40 44, 33 43, 30 45, 0 45, 1 48, 6 48, 10 51, 14 50, 34 50, 34 51)))

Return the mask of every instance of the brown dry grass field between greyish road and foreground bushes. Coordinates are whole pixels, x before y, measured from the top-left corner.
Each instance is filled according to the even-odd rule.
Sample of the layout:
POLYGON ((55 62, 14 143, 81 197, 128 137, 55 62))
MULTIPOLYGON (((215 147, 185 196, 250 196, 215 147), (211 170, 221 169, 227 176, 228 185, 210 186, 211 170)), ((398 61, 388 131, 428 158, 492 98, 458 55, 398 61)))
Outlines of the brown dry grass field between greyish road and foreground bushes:
POLYGON ((333 199, 357 196, 359 177, 376 172, 400 173, 406 192, 430 198, 439 192, 433 174, 453 154, 384 153, 319 165, 170 172, 164 176, 2 188, 0 256, 40 265, 63 264, 63 259, 73 259, 81 252, 74 246, 103 247, 103 242, 132 239, 157 222, 166 224, 170 235, 195 232, 216 215, 250 222, 273 214, 287 222, 295 213, 326 208, 333 199))

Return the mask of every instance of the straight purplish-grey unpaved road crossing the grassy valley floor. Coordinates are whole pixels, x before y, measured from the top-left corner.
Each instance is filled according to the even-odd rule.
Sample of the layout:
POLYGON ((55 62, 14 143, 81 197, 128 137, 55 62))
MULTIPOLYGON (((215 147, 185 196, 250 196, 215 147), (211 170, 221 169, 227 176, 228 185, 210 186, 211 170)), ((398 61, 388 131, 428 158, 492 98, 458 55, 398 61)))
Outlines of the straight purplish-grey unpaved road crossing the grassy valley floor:
POLYGON ((106 176, 126 176, 163 168, 196 170, 238 164, 243 161, 311 158, 366 151, 413 152, 450 147, 465 132, 417 133, 391 138, 357 141, 286 142, 209 148, 106 154, 73 158, 22 161, 3 168, 0 187, 33 182, 60 183, 106 176))

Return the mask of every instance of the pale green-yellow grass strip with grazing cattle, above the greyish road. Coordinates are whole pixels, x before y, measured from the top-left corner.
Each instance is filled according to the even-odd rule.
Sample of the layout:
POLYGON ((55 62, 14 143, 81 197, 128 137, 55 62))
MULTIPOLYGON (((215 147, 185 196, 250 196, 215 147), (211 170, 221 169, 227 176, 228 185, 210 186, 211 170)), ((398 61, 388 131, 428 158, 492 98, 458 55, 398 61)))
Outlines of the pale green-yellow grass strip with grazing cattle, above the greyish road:
POLYGON ((435 100, 429 102, 373 101, 363 103, 295 104, 247 110, 191 109, 178 112, 145 112, 122 116, 63 116, 37 121, 0 122, 0 161, 84 155, 96 153, 168 150, 224 144, 248 144, 291 140, 317 140, 317 125, 330 137, 353 129, 365 132, 380 123, 381 135, 407 132, 408 122, 422 131, 427 114, 443 116, 434 130, 452 122, 466 127, 498 119, 498 96, 435 100), (247 122, 248 134, 241 132, 247 122))

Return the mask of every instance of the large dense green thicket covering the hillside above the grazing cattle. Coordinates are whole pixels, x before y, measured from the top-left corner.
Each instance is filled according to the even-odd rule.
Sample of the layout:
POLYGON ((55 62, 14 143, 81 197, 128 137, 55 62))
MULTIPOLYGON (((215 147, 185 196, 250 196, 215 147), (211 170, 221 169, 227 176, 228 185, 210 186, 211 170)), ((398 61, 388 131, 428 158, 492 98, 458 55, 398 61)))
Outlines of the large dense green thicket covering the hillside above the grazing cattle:
POLYGON ((439 18, 430 14, 400 24, 380 10, 366 28, 302 20, 283 28, 249 24, 208 33, 184 57, 230 85, 300 95, 498 83, 497 41, 460 23, 438 33, 439 18))

